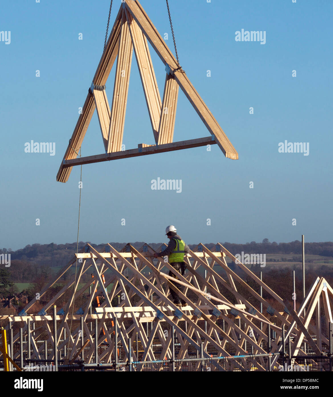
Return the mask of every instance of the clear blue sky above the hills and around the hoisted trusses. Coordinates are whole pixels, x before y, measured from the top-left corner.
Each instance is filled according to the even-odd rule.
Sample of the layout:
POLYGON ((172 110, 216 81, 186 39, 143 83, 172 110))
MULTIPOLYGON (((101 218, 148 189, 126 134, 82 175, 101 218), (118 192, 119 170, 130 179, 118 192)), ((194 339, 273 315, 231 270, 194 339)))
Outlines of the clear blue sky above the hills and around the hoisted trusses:
MULTIPOLYGON (((166 2, 141 4, 174 51, 166 2)), ((76 241, 80 167, 67 183, 56 175, 103 52, 109 5, 1 4, 1 248, 76 241), (54 142, 55 155, 26 153, 30 141, 54 142)), ((169 6, 181 66, 239 160, 213 145, 84 165, 79 240, 167 242, 165 227, 172 224, 190 244, 294 241, 302 234, 306 242, 332 241, 333 2, 169 0, 169 6), (236 41, 242 29, 261 31, 265 43, 236 41), (285 141, 308 143, 308 155, 280 153, 285 141), (158 177, 181 180, 181 193, 152 190, 158 177)), ((119 7, 114 0, 111 27, 119 7)), ((150 50, 162 96, 164 65, 150 50)), ((115 65, 106 84, 110 103, 115 65)), ((206 136, 180 90, 174 141, 206 136)), ((134 55, 123 143, 154 144, 134 55)), ((82 156, 102 153, 95 112, 82 156)))

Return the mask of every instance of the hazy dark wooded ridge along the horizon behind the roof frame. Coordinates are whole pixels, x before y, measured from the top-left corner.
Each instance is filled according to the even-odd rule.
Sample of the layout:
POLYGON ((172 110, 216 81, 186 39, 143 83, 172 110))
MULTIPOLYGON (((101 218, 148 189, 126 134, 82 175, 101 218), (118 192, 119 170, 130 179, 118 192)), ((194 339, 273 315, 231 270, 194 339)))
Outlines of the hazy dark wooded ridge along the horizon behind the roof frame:
MULTIPOLYGON (((91 244, 90 242, 88 242, 91 244)), ((144 244, 143 241, 136 241, 131 243, 133 247, 139 249, 144 244)), ((150 247, 157 250, 162 243, 148 243, 150 247)), ((246 244, 235 244, 235 243, 221 243, 228 251, 232 254, 239 254, 242 251, 253 254, 302 254, 302 244, 300 241, 292 241, 291 243, 270 243, 268 239, 264 239, 262 243, 251 243, 246 244)), ((79 250, 83 249, 86 243, 80 241, 79 250)), ((103 244, 91 244, 92 247, 99 250, 105 248, 106 243, 103 244)), ((120 251, 126 243, 110 243, 117 251, 120 251)), ((196 249, 196 244, 188 244, 190 249, 196 249)), ((204 243, 204 245, 215 251, 215 243, 204 243)), ((0 249, 0 254, 11 254, 11 260, 24 260, 28 262, 34 262, 38 264, 48 264, 48 266, 63 266, 68 262, 74 252, 76 252, 76 243, 67 244, 33 244, 27 245, 23 249, 17 251, 11 251, 10 248, 0 249)), ((333 242, 327 241, 325 243, 305 243, 305 254, 308 255, 321 255, 321 256, 333 256, 333 242)))

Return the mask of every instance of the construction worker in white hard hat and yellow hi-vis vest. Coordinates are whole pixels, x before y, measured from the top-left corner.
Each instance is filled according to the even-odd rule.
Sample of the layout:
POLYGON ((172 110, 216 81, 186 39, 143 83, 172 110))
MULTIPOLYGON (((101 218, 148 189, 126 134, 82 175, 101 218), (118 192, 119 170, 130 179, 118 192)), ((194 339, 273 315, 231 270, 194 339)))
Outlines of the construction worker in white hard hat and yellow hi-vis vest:
MULTIPOLYGON (((175 226, 169 225, 166 227, 166 236, 168 239, 170 239, 169 244, 167 248, 164 251, 161 252, 155 252, 154 257, 158 258, 159 256, 169 256, 169 263, 171 266, 177 270, 178 273, 180 273, 182 276, 185 274, 186 266, 184 263, 184 256, 185 254, 188 254, 190 252, 190 249, 188 246, 184 243, 184 241, 181 239, 181 237, 177 234, 177 230, 175 226)), ((169 271, 169 276, 177 279, 178 277, 169 271)), ((175 281, 170 281, 179 289, 179 291, 183 292, 184 290, 184 285, 181 285, 179 283, 176 283, 175 281)), ((186 306, 187 303, 181 299, 175 291, 173 291, 172 288, 170 288, 170 293, 173 299, 173 303, 175 303, 176 306, 186 306)))

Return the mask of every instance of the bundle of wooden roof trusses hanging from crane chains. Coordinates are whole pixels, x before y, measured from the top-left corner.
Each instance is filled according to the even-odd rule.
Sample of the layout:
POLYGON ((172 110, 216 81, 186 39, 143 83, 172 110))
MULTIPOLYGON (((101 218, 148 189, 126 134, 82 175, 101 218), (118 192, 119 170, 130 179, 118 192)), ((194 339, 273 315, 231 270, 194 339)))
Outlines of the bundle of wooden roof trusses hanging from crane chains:
POLYGON ((88 96, 57 174, 66 182, 72 167, 79 164, 110 161, 207 144, 217 144, 225 156, 237 159, 238 153, 226 137, 207 105, 192 86, 165 41, 137 0, 122 2, 107 46, 103 52, 88 96), (166 65, 166 80, 161 101, 148 42, 166 65), (122 151, 127 94, 132 55, 135 53, 147 103, 155 144, 139 143, 138 148, 122 151), (112 104, 108 103, 105 83, 117 58, 112 104), (173 142, 179 87, 188 98, 211 137, 173 142), (97 110, 105 154, 77 158, 93 112, 97 110))

